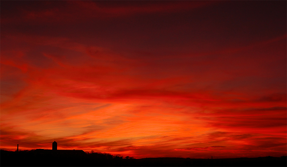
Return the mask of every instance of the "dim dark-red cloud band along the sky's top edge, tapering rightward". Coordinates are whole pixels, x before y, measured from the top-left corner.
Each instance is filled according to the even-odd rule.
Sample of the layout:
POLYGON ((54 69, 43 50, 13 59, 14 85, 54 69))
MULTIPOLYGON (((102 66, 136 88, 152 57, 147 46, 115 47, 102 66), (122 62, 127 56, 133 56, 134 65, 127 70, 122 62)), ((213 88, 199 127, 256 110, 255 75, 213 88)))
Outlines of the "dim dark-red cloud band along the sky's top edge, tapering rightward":
MULTIPOLYGON (((2 16, 1 24, 19 24, 29 22, 30 24, 38 23, 73 23, 73 22, 87 22, 93 19, 108 19, 117 17, 129 17, 136 14, 154 14, 154 13, 173 13, 184 10, 192 10, 195 8, 211 5, 217 3, 216 1, 170 1, 164 3, 145 3, 133 4, 123 3, 118 6, 105 6, 104 3, 96 1, 63 1, 45 2, 46 7, 39 8, 42 4, 30 4, 31 7, 23 9, 15 6, 18 9, 20 17, 2 16), (34 6, 35 5, 35 6, 34 6), (38 5, 38 6, 37 6, 38 5), (33 7, 34 8, 33 8, 33 7)), ((9 4, 3 4, 9 5, 9 4)), ((9 7, 7 7, 9 8, 9 7)))

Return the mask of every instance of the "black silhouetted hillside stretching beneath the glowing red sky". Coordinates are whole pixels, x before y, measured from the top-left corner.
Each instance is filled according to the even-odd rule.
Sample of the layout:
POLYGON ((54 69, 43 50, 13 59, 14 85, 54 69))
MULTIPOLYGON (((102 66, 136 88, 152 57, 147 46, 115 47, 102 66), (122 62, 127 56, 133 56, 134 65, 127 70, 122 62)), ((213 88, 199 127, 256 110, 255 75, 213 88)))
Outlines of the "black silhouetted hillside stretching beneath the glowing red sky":
POLYGON ((286 166, 286 156, 259 158, 123 158, 109 153, 1 150, 1 166, 286 166))

